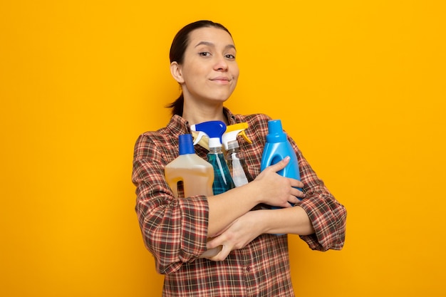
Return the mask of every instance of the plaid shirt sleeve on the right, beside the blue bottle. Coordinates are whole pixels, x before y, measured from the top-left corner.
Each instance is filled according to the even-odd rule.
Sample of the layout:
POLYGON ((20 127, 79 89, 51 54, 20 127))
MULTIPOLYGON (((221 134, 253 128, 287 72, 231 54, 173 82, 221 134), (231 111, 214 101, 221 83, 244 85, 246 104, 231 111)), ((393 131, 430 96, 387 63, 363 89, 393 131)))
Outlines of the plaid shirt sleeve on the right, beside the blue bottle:
POLYGON ((306 211, 315 230, 314 234, 300 237, 314 250, 340 250, 346 239, 346 208, 333 197, 323 181, 318 178, 294 140, 290 138, 290 142, 298 155, 301 182, 304 183, 306 192, 306 198, 297 205, 306 211))

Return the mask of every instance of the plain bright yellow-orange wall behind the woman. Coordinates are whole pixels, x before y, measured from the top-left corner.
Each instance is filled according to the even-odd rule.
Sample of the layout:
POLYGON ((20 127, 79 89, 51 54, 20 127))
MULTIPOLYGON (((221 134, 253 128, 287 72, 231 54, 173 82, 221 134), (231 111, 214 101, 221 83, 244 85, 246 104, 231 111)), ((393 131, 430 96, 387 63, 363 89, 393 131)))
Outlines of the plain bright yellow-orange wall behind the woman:
POLYGON ((133 145, 198 19, 235 38, 227 106, 280 118, 348 209, 343 251, 290 236, 296 296, 446 296, 445 1, 155 3, 0 2, 0 296, 160 296, 133 145))

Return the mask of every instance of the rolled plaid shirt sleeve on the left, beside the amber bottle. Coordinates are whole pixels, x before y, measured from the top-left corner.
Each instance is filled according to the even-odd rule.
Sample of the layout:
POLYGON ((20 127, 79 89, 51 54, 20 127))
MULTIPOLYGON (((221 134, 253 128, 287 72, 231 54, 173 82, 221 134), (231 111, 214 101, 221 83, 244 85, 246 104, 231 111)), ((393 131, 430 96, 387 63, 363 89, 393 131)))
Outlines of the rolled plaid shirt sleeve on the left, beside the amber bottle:
POLYGON ((145 246, 155 256, 157 271, 168 274, 206 251, 209 208, 205 196, 173 196, 164 176, 169 145, 157 138, 138 137, 132 181, 145 246))

